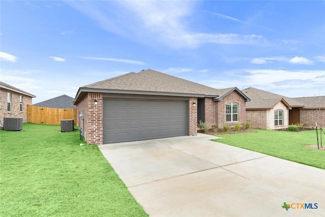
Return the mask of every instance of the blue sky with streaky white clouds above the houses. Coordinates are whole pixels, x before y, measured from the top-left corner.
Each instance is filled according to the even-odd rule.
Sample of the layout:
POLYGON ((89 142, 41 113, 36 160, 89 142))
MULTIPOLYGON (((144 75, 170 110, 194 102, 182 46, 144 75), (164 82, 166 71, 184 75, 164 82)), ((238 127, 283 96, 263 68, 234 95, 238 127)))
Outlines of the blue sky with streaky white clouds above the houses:
POLYGON ((153 69, 325 95, 324 1, 1 1, 1 81, 38 103, 153 69))

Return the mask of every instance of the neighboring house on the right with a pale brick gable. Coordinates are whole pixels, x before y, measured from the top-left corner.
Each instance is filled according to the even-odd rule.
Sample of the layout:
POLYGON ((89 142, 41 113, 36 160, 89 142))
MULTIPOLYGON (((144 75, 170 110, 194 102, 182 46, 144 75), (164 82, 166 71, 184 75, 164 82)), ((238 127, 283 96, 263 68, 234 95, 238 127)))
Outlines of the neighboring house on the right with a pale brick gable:
POLYGON ((251 99, 246 103, 246 119, 252 128, 285 129, 303 123, 305 127, 325 126, 325 97, 289 98, 248 87, 242 92, 251 99))

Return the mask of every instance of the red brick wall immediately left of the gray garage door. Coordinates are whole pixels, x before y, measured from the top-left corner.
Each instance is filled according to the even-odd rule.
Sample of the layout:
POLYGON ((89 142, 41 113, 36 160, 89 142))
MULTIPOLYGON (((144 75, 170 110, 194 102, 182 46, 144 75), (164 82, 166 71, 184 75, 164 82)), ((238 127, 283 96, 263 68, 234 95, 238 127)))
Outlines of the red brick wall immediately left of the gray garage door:
POLYGON ((103 95, 87 93, 77 105, 77 125, 82 128, 88 144, 103 144, 103 95), (94 100, 98 105, 94 105, 94 100), (84 109, 84 120, 80 119, 80 111, 84 109), (83 123, 82 123, 83 122, 83 123))

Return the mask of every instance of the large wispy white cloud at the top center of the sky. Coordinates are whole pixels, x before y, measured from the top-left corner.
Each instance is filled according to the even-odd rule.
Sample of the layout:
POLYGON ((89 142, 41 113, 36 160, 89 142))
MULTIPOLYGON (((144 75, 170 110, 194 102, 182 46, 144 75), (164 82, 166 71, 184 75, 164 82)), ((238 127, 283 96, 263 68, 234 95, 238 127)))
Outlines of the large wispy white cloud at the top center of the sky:
MULTIPOLYGON (((193 32, 188 17, 196 1, 68 1, 102 28, 143 44, 197 48, 204 43, 268 45, 261 35, 193 32), (144 13, 145 12, 145 13, 144 13)), ((233 18, 236 19, 236 18, 233 18)))

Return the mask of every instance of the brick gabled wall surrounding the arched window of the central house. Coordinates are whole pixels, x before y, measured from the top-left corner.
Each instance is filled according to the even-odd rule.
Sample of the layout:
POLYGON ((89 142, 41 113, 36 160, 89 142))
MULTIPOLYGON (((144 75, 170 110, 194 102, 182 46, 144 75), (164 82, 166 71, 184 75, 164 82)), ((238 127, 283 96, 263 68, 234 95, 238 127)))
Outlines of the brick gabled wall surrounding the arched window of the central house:
POLYGON ((236 123, 245 125, 246 123, 246 103, 245 100, 236 92, 231 92, 228 96, 224 97, 222 101, 217 101, 216 104, 216 126, 222 128, 223 125, 234 127, 236 123), (238 121, 237 122, 226 122, 225 119, 225 105, 227 103, 238 104, 238 121))

